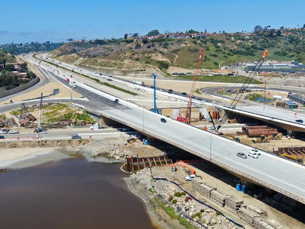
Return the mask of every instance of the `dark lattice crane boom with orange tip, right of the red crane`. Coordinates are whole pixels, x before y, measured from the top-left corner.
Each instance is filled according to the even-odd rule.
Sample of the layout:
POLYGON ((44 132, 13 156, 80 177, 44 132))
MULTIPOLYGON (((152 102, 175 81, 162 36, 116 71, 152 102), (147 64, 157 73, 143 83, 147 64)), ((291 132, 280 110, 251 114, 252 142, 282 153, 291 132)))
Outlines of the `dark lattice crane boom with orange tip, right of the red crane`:
MULTIPOLYGON (((233 99, 231 105, 229 106, 228 111, 232 111, 235 106, 237 105, 237 103, 239 102, 239 100, 241 99, 241 97, 243 96, 243 94, 245 93, 246 89, 248 88, 249 84, 251 83, 252 79, 254 78, 254 76, 256 75, 256 73, 258 72, 258 70, 260 69, 260 67, 262 66, 265 57, 267 56, 268 51, 266 50, 263 54, 263 56, 259 59, 259 61, 257 61, 257 63, 255 64, 253 71, 250 73, 250 75, 247 77, 245 83, 243 84, 243 86, 241 87, 241 90, 239 90, 239 92, 237 93, 237 95, 235 96, 235 98, 233 99)), ((223 116, 223 118, 221 119, 220 123, 218 124, 217 127, 217 131, 220 129, 220 127, 227 121, 228 119, 228 115, 227 113, 223 116)))

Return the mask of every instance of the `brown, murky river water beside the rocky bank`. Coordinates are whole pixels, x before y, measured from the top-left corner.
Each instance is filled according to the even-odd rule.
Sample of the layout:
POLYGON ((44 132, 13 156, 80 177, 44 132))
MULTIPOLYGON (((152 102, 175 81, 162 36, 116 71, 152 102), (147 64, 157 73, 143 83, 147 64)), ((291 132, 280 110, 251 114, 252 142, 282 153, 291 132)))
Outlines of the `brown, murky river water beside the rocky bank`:
POLYGON ((1 228, 158 228, 119 168, 77 156, 0 172, 1 228))

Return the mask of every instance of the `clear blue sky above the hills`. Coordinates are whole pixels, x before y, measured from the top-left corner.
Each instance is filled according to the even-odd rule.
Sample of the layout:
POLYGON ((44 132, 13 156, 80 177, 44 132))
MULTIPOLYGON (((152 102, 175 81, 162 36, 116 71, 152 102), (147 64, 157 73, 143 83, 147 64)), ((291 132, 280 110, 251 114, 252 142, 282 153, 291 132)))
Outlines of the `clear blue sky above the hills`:
POLYGON ((13 0, 1 4, 0 44, 303 27, 304 0, 13 0))

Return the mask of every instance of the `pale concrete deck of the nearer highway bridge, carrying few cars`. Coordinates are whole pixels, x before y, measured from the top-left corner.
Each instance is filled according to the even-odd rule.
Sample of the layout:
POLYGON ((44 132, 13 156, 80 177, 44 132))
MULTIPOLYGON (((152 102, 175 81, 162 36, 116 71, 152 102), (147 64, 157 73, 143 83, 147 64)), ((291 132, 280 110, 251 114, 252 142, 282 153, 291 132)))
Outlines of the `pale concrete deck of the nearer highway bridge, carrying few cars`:
MULTIPOLYGON (((91 82, 91 84, 94 86, 94 83, 91 82)), ((248 154, 250 147, 246 145, 152 113, 123 99, 116 104, 114 95, 94 89, 90 83, 78 83, 77 90, 80 90, 79 88, 82 88, 83 94, 90 92, 89 95, 87 94, 89 101, 77 99, 73 101, 76 105, 93 110, 95 113, 109 117, 147 136, 168 142, 239 174, 246 180, 252 180, 254 183, 305 203, 304 166, 269 153, 262 153, 259 158, 242 159, 237 157, 236 153, 248 154), (94 97, 95 99, 93 99, 94 97), (167 122, 161 122, 161 117, 165 118, 167 122), (291 174, 293 174, 293 179, 291 179, 291 174)), ((59 100, 67 102, 69 98, 59 100)), ((44 103, 47 101, 50 100, 43 99, 44 103)), ((38 102, 33 101, 33 103, 38 102)), ((0 112, 17 107, 19 108, 20 104, 7 104, 0 107, 0 112)))

